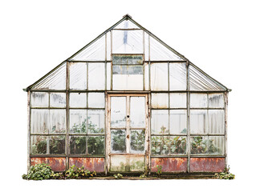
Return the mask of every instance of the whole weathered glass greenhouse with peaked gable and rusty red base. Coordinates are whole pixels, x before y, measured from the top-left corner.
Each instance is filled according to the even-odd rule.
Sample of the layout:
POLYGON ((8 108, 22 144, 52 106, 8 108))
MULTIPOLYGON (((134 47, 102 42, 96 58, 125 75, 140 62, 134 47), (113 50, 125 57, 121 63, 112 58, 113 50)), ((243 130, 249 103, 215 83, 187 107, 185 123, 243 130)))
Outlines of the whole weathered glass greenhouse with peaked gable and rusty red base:
POLYGON ((124 17, 28 86, 28 168, 213 174, 230 90, 124 17))

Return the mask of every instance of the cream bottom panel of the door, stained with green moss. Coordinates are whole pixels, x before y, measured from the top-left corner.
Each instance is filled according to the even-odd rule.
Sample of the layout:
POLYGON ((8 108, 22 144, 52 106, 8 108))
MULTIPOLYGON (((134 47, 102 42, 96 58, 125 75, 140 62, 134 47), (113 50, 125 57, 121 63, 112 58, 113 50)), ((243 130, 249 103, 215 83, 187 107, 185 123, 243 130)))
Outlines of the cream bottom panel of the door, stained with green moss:
POLYGON ((112 154, 110 171, 113 172, 139 172, 144 171, 144 155, 112 154))

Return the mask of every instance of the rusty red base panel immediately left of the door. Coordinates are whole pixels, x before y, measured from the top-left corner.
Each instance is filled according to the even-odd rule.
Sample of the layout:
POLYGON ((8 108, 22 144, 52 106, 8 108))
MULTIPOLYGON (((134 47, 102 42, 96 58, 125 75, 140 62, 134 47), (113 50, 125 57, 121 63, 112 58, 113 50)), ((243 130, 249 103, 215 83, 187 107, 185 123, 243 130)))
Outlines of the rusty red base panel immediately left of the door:
POLYGON ((84 169, 96 171, 97 173, 104 172, 104 158, 69 158, 69 166, 83 166, 84 169))

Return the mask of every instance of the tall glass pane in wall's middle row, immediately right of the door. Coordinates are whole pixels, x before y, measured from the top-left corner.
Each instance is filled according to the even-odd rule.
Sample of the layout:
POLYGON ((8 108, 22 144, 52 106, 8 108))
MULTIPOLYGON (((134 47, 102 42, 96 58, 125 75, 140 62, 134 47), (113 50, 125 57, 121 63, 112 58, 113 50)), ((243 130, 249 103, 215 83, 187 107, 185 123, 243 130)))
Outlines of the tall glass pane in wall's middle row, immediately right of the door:
POLYGON ((169 134, 168 110, 152 110, 151 114, 151 133, 169 134))

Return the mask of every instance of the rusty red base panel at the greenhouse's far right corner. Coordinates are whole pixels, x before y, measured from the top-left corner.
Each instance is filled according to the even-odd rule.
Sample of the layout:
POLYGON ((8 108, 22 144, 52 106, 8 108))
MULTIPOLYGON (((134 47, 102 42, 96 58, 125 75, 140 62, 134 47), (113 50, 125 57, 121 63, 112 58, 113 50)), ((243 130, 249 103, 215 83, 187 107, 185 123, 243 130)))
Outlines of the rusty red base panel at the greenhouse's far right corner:
POLYGON ((225 158, 190 158, 191 172, 221 172, 225 168, 225 158))

